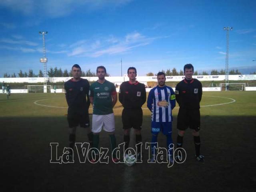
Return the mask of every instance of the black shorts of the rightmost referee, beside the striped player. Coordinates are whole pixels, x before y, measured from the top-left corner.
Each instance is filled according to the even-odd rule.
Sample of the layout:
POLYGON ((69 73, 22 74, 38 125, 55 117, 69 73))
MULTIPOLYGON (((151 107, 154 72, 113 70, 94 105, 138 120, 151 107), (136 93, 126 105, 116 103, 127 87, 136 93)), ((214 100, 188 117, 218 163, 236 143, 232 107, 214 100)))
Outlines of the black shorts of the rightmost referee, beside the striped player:
POLYGON ((179 109, 177 118, 178 130, 187 128, 198 130, 200 128, 200 110, 199 109, 179 109))

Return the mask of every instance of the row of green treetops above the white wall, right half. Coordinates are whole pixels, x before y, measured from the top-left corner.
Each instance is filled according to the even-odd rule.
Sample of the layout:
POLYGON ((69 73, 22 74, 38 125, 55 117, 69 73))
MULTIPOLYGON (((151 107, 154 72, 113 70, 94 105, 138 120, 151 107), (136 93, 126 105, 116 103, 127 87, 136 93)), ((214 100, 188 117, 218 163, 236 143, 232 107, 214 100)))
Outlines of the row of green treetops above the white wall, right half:
MULTIPOLYGON (((160 72, 160 71, 159 71, 160 72)), ((180 70, 180 72, 177 72, 176 68, 173 68, 172 70, 167 69, 166 71, 162 70, 161 72, 164 72, 166 76, 183 76, 183 70, 180 70)), ((212 70, 210 75, 225 75, 226 72, 222 69, 220 71, 218 70, 212 70)), ((229 72, 230 75, 240 75, 241 72, 239 72, 238 70, 230 70, 229 72)), ((253 73, 255 74, 255 72, 253 73)), ((154 74, 152 72, 149 72, 146 74, 146 76, 156 76, 157 74, 154 74)), ((203 71, 202 73, 198 73, 198 71, 194 71, 194 75, 209 75, 208 72, 203 71)))

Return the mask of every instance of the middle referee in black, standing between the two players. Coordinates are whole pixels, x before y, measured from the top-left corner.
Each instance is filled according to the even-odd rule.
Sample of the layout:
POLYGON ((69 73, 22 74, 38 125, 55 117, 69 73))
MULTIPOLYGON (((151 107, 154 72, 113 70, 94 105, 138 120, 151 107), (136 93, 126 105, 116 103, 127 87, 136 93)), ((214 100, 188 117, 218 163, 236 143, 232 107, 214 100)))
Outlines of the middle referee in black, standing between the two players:
MULTIPOLYGON (((142 105, 146 102, 145 85, 136 81, 137 70, 135 67, 129 67, 127 70, 129 81, 123 82, 119 90, 119 101, 124 109, 122 111, 122 123, 124 129, 124 150, 129 147, 130 128, 134 128, 136 134, 136 144, 142 142, 142 105)), ((126 156, 127 154, 125 154, 126 156)), ((141 161, 141 151, 138 148, 137 162, 141 161)))

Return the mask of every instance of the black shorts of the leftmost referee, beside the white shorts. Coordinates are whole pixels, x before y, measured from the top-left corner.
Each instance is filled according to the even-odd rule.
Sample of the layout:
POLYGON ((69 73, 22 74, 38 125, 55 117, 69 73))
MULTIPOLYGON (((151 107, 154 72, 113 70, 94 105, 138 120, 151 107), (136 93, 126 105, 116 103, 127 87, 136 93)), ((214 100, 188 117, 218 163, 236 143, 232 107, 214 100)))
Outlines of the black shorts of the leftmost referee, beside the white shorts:
POLYGON ((80 125, 80 127, 90 127, 90 119, 89 114, 86 110, 82 113, 80 111, 75 111, 72 109, 68 109, 68 127, 76 127, 80 125))

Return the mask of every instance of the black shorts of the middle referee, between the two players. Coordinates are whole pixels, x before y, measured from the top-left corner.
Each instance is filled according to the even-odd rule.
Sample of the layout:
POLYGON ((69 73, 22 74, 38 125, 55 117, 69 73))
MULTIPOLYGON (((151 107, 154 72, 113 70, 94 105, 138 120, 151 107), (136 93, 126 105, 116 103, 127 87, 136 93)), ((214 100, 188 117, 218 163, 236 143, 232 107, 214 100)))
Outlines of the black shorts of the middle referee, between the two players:
POLYGON ((141 130, 143 112, 141 108, 124 109, 122 112, 123 129, 141 130))

